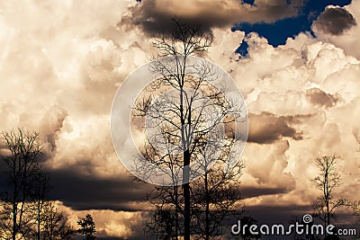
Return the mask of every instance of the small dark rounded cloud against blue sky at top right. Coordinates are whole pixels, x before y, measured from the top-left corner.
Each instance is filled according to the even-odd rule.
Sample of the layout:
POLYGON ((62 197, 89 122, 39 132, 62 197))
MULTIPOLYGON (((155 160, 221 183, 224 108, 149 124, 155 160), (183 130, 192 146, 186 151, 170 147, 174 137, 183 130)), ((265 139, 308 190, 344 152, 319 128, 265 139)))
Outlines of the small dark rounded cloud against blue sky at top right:
POLYGON ((356 19, 344 8, 328 7, 320 14, 314 24, 320 31, 332 35, 341 35, 345 31, 356 26, 356 19))

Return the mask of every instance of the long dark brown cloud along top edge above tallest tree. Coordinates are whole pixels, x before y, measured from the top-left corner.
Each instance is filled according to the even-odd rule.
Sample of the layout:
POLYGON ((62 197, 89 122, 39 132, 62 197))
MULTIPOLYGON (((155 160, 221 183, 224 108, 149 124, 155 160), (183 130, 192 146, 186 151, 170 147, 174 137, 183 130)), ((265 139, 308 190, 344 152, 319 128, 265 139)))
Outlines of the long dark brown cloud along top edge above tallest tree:
POLYGON ((229 26, 236 22, 275 22, 296 16, 303 1, 288 2, 273 0, 246 4, 236 0, 147 0, 130 7, 119 24, 130 28, 137 25, 149 35, 154 35, 172 31, 171 20, 179 17, 184 23, 198 22, 203 31, 210 31, 212 27, 229 26))

